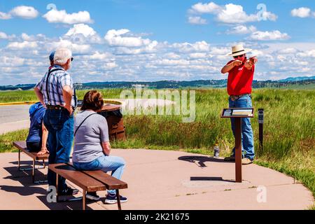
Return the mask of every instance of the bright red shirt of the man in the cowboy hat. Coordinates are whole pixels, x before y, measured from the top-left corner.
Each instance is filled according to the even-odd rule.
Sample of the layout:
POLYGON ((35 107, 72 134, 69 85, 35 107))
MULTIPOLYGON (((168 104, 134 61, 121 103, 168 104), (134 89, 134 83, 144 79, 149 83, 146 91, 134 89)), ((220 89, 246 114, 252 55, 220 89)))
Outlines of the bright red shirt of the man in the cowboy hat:
MULTIPOLYGON (((233 60, 228 62, 228 64, 230 64, 231 62, 233 62, 233 60)), ((252 66, 251 70, 246 69, 244 63, 240 66, 234 66, 234 68, 229 71, 228 94, 250 94, 254 71, 255 65, 252 66)))

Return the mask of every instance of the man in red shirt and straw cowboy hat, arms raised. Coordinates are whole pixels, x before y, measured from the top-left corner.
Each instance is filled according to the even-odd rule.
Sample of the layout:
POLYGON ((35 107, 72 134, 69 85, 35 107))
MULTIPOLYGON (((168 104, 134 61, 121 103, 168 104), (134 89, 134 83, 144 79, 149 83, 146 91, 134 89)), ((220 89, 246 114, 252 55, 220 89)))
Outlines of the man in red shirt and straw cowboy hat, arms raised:
MULTIPOLYGON (((251 108, 251 89, 253 83, 253 73, 255 71, 255 63, 258 59, 251 57, 246 58, 246 52, 251 49, 244 49, 243 45, 235 45, 232 47, 232 59, 226 64, 221 72, 228 73, 228 94, 230 108, 251 108)), ((235 119, 231 118, 232 132, 235 136, 235 119)), ((251 129, 250 118, 241 118, 241 151, 243 165, 251 164, 255 158, 253 144, 253 130, 251 129), (244 155, 244 151, 246 154, 244 155)), ((235 148, 230 157, 225 158, 226 161, 235 161, 235 148)))

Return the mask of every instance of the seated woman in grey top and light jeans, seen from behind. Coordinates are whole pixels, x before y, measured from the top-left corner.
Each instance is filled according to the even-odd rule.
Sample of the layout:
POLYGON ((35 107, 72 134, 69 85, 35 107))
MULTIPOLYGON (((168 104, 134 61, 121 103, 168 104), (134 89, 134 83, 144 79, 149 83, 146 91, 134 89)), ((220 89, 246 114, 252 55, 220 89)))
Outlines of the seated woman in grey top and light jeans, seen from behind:
MULTIPOLYGON (((120 179, 125 169, 125 160, 109 155, 109 127, 106 118, 97 113, 102 110, 103 105, 102 94, 97 90, 90 90, 85 94, 81 112, 74 120, 72 162, 76 169, 111 171, 113 177, 120 179)), ((108 190, 107 193, 105 203, 116 203, 116 190, 108 190)), ((99 200, 96 192, 87 193, 86 197, 99 200)), ((127 202, 127 198, 120 195, 120 202, 127 202)))

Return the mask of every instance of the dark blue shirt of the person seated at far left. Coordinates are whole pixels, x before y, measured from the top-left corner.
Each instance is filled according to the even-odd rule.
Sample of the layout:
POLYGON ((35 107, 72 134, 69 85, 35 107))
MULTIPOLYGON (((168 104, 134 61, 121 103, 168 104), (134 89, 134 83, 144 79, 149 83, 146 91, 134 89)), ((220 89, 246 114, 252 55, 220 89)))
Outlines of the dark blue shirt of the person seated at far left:
POLYGON ((43 116, 45 115, 45 108, 41 102, 31 105, 29 108, 29 118, 31 125, 29 127, 29 135, 27 136, 27 142, 39 142, 41 141, 42 122, 43 116))

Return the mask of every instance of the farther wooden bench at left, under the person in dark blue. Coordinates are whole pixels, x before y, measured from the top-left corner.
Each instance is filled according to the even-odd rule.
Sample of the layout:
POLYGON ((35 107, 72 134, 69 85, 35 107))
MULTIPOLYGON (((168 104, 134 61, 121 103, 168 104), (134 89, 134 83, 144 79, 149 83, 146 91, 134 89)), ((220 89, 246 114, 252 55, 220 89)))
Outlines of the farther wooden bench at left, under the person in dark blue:
POLYGON ((49 154, 45 153, 43 155, 37 155, 37 153, 31 153, 27 150, 27 144, 26 141, 13 141, 13 146, 15 146, 16 148, 18 148, 19 153, 18 153, 18 169, 20 171, 25 171, 25 170, 32 170, 31 172, 31 179, 33 181, 33 183, 47 183, 46 181, 35 181, 35 169, 45 169, 45 160, 48 160, 49 154), (21 164, 21 151, 23 153, 25 153, 26 155, 28 155, 30 158, 32 158, 33 160, 33 166, 31 168, 24 168, 21 169, 20 168, 20 164, 21 164), (35 167, 35 161, 41 160, 43 161, 43 165, 39 166, 39 167, 35 167))

